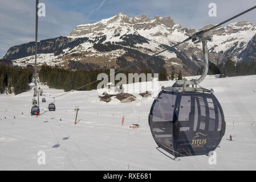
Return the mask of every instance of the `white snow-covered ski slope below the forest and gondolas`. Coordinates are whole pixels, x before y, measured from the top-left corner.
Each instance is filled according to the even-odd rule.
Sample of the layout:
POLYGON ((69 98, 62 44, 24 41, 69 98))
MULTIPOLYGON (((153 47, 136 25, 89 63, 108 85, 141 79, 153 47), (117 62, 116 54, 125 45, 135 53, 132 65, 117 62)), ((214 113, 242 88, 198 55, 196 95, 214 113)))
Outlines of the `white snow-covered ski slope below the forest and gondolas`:
MULTIPOLYGON (((173 83, 159 82, 159 88, 173 83)), ((0 170, 256 170, 256 75, 207 76, 200 85, 214 89, 225 114, 217 164, 205 155, 173 161, 156 150, 148 125, 153 97, 132 93, 134 102, 107 104, 97 90, 75 91, 56 98, 56 111, 48 111, 63 90, 40 85, 46 103, 40 97, 39 117, 30 115, 33 87, 17 96, 0 95, 0 170), (129 128, 135 123, 140 127, 129 128), (45 165, 38 164, 39 151, 46 154, 45 165)))

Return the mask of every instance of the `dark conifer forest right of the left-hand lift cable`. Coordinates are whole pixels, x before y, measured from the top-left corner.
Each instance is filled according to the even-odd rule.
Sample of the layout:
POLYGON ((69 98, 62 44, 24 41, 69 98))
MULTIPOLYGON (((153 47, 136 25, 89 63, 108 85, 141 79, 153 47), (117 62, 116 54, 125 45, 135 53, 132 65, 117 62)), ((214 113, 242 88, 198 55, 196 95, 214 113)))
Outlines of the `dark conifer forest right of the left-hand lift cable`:
MULTIPOLYGON (((202 74, 202 69, 198 69, 197 75, 202 74)), ((66 92, 77 89, 80 86, 84 86, 94 82, 90 85, 84 86, 78 90, 92 90, 97 88, 97 84, 100 81, 97 80, 97 75, 99 73, 106 73, 109 75, 109 69, 94 69, 94 70, 78 70, 78 71, 70 71, 63 68, 53 68, 48 65, 42 65, 39 71, 39 79, 44 84, 48 85, 50 88, 55 89, 64 89, 66 92)), ((117 71, 116 71, 117 73, 117 71)), ((128 78, 128 73, 135 73, 135 70, 130 69, 127 71, 122 71, 128 78)), ((141 69, 140 73, 153 73, 151 68, 141 69)), ((246 63, 244 61, 237 62, 235 64, 234 61, 231 61, 227 58, 225 63, 221 64, 209 64, 208 75, 216 75, 220 74, 220 77, 227 76, 243 76, 243 75, 255 75, 256 74, 256 62, 253 60, 250 63, 246 63)), ((179 80, 182 80, 181 72, 179 73, 179 80)), ((159 80, 165 81, 167 80, 166 70, 163 69, 159 72, 159 80)), ((117 83, 118 81, 116 81, 117 83)), ((128 80, 127 80, 128 82, 128 80)))

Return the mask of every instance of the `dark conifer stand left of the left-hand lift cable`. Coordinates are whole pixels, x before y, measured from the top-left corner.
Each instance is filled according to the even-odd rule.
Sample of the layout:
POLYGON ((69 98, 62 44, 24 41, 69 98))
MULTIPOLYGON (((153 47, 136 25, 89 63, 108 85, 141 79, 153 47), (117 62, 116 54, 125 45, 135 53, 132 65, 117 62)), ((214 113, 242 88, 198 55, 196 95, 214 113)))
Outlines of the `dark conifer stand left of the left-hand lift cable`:
POLYGON ((32 75, 31 69, 0 65, 0 93, 8 91, 17 95, 26 92, 32 81, 32 75))

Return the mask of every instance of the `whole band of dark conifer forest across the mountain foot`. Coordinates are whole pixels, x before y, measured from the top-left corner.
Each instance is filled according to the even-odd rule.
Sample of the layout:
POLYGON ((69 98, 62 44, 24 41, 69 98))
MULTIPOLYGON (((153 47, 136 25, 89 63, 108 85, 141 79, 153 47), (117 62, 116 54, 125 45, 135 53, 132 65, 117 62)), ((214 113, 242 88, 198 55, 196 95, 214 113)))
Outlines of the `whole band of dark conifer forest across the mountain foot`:
MULTIPOLYGON (((202 69, 198 69, 197 75, 202 74, 202 69)), ((135 73, 134 69, 122 71, 128 78, 128 73, 135 73)), ((42 65, 39 71, 39 79, 50 88, 64 89, 70 91, 87 85, 79 90, 92 90, 97 88, 100 81, 97 80, 97 75, 106 73, 109 75, 109 69, 87 69, 70 71, 63 68, 50 67, 46 64, 42 65)), ((117 73, 117 71, 116 71, 117 73)), ((143 68, 139 73, 153 73, 151 68, 143 68)), ((249 63, 245 61, 237 62, 231 61, 228 57, 225 63, 209 64, 208 75, 220 74, 220 77, 256 75, 256 61, 252 60, 249 63)), ((167 80, 166 70, 159 72, 159 80, 167 80)), ((0 65, 0 93, 4 93, 8 89, 8 93, 19 94, 26 92, 29 89, 29 83, 32 81, 32 69, 11 67, 7 65, 0 65)), ((127 80, 128 81, 128 80, 127 80)), ((118 81, 116 81, 117 83, 118 81)))

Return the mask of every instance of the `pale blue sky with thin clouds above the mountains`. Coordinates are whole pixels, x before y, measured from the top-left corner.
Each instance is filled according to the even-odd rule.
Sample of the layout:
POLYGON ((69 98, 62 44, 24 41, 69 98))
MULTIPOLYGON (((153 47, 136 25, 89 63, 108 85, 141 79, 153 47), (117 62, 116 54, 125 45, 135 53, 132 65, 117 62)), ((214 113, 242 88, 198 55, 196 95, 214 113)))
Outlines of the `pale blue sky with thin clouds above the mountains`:
MULTIPOLYGON (((149 18, 171 16, 187 28, 217 24, 256 5, 255 0, 39 0, 46 4, 46 17, 39 18, 39 40, 68 35, 78 24, 94 23, 120 12, 149 18), (216 3, 217 16, 208 16, 209 3, 216 3)), ((256 10, 233 20, 256 24, 256 10)), ((231 23, 231 22, 230 22, 231 23)), ((0 0, 0 57, 11 46, 33 41, 35 0, 0 0)))

